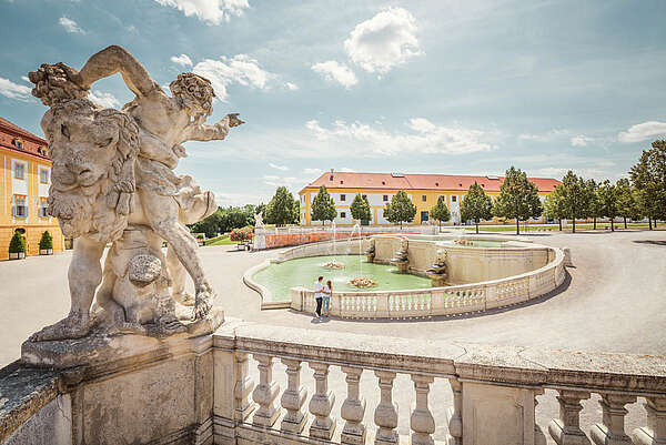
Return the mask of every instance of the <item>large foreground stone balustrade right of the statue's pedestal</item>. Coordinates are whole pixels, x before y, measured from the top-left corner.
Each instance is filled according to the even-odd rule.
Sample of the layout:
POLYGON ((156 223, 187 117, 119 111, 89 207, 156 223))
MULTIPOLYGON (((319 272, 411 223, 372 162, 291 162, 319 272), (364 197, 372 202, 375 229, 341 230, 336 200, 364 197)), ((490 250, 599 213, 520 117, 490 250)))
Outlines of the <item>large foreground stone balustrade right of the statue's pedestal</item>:
POLYGON ((664 356, 230 321, 213 362, 215 444, 589 444, 584 429, 597 445, 666 441, 664 356))

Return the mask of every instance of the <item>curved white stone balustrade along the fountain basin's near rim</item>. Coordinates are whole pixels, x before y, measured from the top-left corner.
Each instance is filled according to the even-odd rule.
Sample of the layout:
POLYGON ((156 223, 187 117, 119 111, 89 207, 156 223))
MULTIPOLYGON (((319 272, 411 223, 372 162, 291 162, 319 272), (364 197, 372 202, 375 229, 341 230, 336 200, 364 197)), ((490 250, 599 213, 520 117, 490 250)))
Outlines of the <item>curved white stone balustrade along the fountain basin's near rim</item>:
MULTIPOLYGON (((456 286, 386 292, 334 292, 331 315, 343 318, 413 318, 462 315, 524 303, 539 297, 565 279, 564 253, 552 249, 553 261, 536 271, 502 280, 456 286)), ((291 290, 291 309, 314 313, 314 292, 291 290)))

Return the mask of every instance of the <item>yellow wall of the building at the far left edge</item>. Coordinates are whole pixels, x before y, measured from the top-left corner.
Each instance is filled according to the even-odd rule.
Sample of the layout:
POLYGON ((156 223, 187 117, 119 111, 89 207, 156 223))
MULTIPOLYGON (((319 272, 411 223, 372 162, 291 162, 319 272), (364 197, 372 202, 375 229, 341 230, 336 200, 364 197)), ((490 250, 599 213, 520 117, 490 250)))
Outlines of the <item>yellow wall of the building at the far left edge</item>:
MULTIPOLYGON (((9 259, 9 242, 17 229, 26 231, 26 254, 39 255, 39 240, 44 231, 53 237, 53 252, 64 250, 64 237, 54 218, 39 218, 39 166, 50 169, 50 162, 29 154, 0 149, 0 260, 9 259), (24 172, 27 183, 26 204, 28 218, 12 215, 12 159, 27 164, 24 172)), ((50 178, 49 178, 50 181, 50 178)), ((42 184, 42 186, 48 186, 42 184)), ((21 193, 23 194, 23 193, 21 193)))

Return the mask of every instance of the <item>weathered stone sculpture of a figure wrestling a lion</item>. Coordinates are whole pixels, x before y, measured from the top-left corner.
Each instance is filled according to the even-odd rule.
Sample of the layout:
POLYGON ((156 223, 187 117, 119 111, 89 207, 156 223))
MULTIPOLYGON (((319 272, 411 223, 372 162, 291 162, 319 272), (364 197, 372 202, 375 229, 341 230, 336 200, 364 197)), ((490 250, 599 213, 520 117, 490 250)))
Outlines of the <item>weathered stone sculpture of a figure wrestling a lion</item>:
POLYGON ((214 98, 210 81, 180 74, 169 97, 121 47, 92 55, 81 71, 42 64, 29 78, 32 94, 50 107, 41 122, 53 162, 48 212, 74 239, 71 312, 30 342, 80 338, 91 331, 165 336, 215 328, 223 315, 213 307, 215 293, 185 226, 216 210, 214 195, 173 169, 186 155, 183 142, 222 140, 243 121, 228 114, 206 125, 214 98), (118 111, 87 99, 97 80, 117 72, 135 94, 131 102, 118 111), (185 271, 194 299, 184 293, 185 271))

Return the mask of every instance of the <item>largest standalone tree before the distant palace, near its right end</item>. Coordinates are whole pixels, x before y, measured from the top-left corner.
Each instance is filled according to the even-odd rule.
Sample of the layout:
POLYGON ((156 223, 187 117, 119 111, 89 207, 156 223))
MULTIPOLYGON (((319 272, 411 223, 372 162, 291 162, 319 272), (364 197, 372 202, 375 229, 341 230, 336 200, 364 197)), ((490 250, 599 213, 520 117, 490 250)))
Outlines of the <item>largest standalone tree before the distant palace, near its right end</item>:
POLYGON ((493 204, 493 214, 500 218, 516 220, 516 234, 521 233, 521 221, 538 218, 542 205, 538 189, 527 179, 527 174, 513 165, 506 171, 500 195, 493 204))

